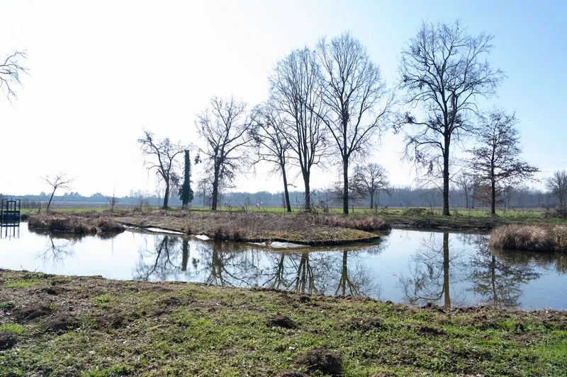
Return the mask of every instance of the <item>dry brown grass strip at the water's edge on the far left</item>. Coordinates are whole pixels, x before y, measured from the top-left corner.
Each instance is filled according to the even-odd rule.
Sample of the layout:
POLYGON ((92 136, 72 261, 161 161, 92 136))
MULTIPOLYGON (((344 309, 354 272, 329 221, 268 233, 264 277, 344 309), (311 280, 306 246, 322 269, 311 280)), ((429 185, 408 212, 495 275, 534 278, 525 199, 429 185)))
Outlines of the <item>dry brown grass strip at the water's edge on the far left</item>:
POLYGON ((125 229, 123 225, 103 216, 67 214, 35 214, 29 217, 28 227, 74 234, 120 233, 125 229))

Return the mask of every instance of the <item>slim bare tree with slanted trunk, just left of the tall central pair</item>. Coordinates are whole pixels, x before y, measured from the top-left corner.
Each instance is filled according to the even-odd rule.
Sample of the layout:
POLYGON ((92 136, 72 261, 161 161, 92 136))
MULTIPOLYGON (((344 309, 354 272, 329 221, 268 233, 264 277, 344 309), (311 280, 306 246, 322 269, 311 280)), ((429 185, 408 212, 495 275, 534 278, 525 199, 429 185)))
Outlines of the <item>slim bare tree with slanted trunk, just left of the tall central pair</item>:
POLYGON ((252 127, 249 134, 254 141, 257 161, 271 162, 276 166, 276 171, 281 173, 283 198, 287 211, 291 212, 286 172, 290 146, 286 139, 285 129, 285 120, 273 101, 267 101, 252 110, 252 127))

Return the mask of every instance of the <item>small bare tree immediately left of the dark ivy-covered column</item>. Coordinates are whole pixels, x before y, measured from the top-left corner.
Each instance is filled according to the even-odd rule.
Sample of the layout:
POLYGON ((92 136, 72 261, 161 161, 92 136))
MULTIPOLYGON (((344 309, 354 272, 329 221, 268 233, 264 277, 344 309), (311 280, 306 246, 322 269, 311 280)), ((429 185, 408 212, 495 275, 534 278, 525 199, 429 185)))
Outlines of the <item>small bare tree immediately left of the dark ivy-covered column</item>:
POLYGON ((175 161, 176 156, 184 153, 186 147, 181 144, 172 143, 169 137, 162 140, 156 140, 152 132, 144 130, 144 136, 137 139, 140 149, 146 157, 152 158, 152 161, 144 161, 147 170, 156 170, 159 180, 165 185, 163 209, 169 208, 169 192, 179 183, 179 175, 176 173, 178 168, 175 161))

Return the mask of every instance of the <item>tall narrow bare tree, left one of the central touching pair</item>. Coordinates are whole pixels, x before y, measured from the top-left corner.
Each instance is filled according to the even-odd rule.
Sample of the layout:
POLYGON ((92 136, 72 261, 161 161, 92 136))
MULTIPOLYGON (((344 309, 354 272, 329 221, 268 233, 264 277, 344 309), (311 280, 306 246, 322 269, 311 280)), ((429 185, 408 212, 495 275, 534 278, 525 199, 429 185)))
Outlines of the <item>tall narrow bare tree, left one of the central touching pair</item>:
POLYGON ((271 100, 285 117, 290 157, 301 168, 305 209, 311 208, 311 169, 321 162, 327 147, 325 124, 319 116, 325 114, 319 77, 315 54, 307 47, 281 59, 270 77, 271 100))

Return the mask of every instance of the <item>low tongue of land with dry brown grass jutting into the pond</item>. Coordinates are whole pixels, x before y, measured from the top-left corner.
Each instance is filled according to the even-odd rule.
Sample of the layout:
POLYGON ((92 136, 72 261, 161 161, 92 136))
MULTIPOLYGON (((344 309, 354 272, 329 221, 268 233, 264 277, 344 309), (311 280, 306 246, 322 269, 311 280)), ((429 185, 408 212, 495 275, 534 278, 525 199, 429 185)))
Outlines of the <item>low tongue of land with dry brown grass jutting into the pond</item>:
POLYGON ((269 214, 242 211, 152 211, 116 214, 122 224, 159 227, 216 240, 279 240, 308 245, 332 245, 377 238, 390 229, 378 217, 343 217, 316 213, 269 214))

